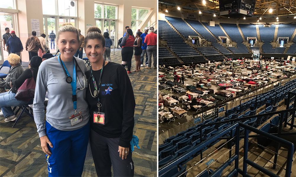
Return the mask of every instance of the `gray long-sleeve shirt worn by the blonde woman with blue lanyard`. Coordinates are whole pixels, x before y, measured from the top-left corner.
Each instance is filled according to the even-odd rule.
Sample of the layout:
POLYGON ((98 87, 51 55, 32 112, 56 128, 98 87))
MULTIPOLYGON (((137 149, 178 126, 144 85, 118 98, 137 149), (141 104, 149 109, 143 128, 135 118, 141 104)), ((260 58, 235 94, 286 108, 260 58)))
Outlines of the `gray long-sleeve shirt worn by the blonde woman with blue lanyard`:
MULTIPOLYGON (((76 57, 75 57, 76 58, 76 57)), ((76 79, 76 95, 77 95, 77 113, 82 112, 83 122, 71 126, 69 117, 74 114, 74 107, 72 101, 72 87, 70 83, 66 82, 66 76, 61 64, 56 57, 49 58, 41 63, 36 80, 35 98, 33 103, 34 119, 37 126, 39 137, 46 135, 44 127, 44 99, 46 90, 48 93, 48 104, 46 107, 46 121, 58 130, 70 131, 77 130, 89 122, 89 109, 86 102, 86 88, 88 82, 86 80, 85 72, 86 66, 83 60, 76 58, 82 73, 78 67, 76 73, 81 83, 76 79), (83 77, 82 77, 83 74, 83 77), (84 81, 83 81, 84 79, 84 81)), ((73 61, 64 62, 65 66, 73 78, 73 61)))

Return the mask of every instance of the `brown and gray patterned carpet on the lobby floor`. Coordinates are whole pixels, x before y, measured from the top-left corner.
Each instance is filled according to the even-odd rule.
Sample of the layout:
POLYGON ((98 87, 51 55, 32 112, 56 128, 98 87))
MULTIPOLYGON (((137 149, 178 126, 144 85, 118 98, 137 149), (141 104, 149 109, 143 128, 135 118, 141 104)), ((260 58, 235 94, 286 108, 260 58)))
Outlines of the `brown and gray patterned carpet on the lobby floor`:
MULTIPOLYGON (((111 52, 112 62, 121 63, 121 50, 111 52)), ((28 64, 23 64, 27 66, 28 64)), ((132 70, 136 62, 132 59, 132 70)), ((134 135, 134 176, 157 176, 157 70, 141 68, 129 74, 136 99, 134 135)), ((36 124, 24 114, 15 128, 0 117, 0 176, 48 176, 45 154, 40 146, 36 124)), ((86 160, 82 176, 96 176, 94 162, 86 160)))

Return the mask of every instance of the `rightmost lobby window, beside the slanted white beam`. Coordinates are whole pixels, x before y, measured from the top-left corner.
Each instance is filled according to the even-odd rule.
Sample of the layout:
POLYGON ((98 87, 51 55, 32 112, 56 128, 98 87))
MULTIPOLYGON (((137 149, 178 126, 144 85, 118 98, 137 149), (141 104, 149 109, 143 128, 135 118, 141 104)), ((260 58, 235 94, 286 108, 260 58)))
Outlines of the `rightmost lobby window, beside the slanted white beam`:
MULTIPOLYGON (((149 9, 131 8, 131 30, 133 30, 133 32, 138 30, 136 28, 141 24, 148 12, 149 9)), ((145 27, 148 27, 148 23, 145 27)))

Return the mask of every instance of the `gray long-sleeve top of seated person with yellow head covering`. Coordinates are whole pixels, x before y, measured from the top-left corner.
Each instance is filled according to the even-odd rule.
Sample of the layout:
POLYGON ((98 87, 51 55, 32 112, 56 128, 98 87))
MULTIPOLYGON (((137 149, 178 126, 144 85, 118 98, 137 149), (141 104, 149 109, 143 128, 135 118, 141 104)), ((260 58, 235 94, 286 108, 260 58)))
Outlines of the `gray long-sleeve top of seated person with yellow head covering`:
POLYGON ((24 68, 20 63, 18 63, 16 66, 11 67, 10 70, 7 73, 7 76, 4 81, 0 81, 0 87, 10 89, 10 82, 12 84, 15 84, 15 80, 20 77, 20 75, 24 72, 24 68))

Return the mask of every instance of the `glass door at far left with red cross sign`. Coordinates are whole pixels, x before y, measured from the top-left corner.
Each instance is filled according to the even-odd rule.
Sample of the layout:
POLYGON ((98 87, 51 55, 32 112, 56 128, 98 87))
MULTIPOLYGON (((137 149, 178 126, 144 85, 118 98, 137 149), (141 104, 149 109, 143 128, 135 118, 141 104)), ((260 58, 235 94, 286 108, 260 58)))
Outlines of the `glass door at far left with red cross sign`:
MULTIPOLYGON (((10 14, 10 13, 0 13, 0 35, 1 35, 1 44, 0 44, 0 64, 2 64, 4 62, 4 60, 7 60, 8 57, 8 53, 6 51, 6 46, 5 46, 5 51, 3 50, 3 39, 2 39, 2 35, 4 35, 6 33, 5 28, 9 28, 9 33, 15 29, 15 19, 14 19, 14 14, 10 14)), ((16 34, 18 34, 16 32, 16 34)), ((19 37, 19 36, 18 36, 19 37)))

